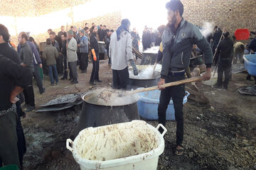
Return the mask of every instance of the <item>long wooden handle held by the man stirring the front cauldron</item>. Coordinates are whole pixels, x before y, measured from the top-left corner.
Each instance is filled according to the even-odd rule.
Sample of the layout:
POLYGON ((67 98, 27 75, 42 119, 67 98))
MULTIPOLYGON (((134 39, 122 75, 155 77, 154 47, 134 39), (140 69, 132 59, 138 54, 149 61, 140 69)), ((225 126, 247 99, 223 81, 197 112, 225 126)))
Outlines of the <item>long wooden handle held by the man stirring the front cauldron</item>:
MULTIPOLYGON (((186 84, 186 83, 191 83, 191 82, 194 82, 194 81, 202 81, 202 80, 203 80, 203 77, 192 77, 190 79, 183 79, 183 80, 180 80, 180 81, 174 81, 174 82, 171 82, 171 83, 163 84, 163 85, 161 85, 161 87, 177 86, 177 85, 180 85, 180 84, 186 84)), ((145 91, 154 91, 156 89, 158 89, 158 86, 151 86, 151 87, 148 87, 148 88, 145 88, 145 89, 137 89, 137 90, 134 90, 134 91, 130 91, 129 94, 137 94, 137 93, 141 93, 141 92, 145 92, 145 91)))

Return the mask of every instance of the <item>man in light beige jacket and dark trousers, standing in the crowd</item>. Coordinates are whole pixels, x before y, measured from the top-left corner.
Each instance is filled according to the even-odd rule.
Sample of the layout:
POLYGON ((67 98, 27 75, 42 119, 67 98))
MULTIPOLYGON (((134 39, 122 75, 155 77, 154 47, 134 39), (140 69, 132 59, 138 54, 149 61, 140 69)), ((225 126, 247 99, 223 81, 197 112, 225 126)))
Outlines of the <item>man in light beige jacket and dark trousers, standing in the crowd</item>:
POLYGON ((68 30, 68 43, 67 43, 67 58, 68 58, 68 67, 70 69, 70 75, 73 75, 73 79, 71 80, 71 84, 78 84, 78 73, 77 73, 77 62, 78 55, 77 49, 78 45, 73 38, 73 30, 68 30))

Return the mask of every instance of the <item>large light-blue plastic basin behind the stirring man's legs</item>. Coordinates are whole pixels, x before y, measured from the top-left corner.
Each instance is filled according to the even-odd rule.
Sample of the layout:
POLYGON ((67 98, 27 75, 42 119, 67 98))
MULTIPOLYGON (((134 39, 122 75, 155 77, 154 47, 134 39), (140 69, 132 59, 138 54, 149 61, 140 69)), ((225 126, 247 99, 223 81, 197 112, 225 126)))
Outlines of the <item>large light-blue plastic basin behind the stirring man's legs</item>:
MULTIPOLYGON (((159 106, 159 97, 161 91, 146 91, 139 93, 139 101, 137 102, 139 115, 146 120, 157 120, 159 106)), ((189 93, 186 91, 186 96, 183 98, 183 104, 188 101, 189 93)), ((171 100, 166 110, 166 120, 175 120, 174 102, 171 100)))

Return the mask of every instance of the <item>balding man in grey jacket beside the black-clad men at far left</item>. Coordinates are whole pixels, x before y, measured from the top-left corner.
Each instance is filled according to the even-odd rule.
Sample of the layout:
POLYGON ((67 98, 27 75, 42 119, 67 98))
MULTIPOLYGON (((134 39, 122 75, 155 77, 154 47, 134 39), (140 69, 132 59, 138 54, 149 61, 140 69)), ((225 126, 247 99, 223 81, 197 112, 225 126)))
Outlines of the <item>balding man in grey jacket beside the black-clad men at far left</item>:
MULTIPOLYGON (((25 32, 21 32, 18 35, 18 42, 21 44, 21 50, 19 51, 19 55, 21 57, 21 66, 26 67, 30 70, 31 74, 33 74, 33 52, 31 47, 29 47, 28 43, 28 35, 25 32)), ((28 108, 25 110, 26 112, 33 111, 35 109, 35 96, 33 92, 33 84, 26 87, 24 89, 23 94, 25 96, 25 103, 28 108)))

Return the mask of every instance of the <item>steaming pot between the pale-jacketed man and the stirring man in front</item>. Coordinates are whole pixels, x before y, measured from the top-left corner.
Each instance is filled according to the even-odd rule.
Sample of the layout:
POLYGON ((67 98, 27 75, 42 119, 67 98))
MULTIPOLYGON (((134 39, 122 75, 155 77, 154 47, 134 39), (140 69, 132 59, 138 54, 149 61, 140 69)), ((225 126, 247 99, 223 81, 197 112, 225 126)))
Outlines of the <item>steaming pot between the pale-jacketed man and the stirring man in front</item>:
MULTIPOLYGON (((142 70, 139 70, 139 73, 142 70)), ((149 77, 134 76, 132 70, 129 70, 129 89, 137 89, 139 87, 151 87, 156 86, 160 80, 160 72, 154 71, 154 74, 149 77)))

